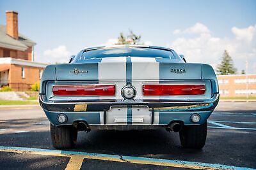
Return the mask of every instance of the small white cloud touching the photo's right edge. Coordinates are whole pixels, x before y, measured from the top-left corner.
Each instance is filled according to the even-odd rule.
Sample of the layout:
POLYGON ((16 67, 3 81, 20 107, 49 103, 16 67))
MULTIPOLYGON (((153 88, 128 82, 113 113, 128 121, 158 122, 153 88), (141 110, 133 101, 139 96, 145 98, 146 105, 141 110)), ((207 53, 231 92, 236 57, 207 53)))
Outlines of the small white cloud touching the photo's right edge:
POLYGON ((232 32, 236 35, 236 39, 252 41, 253 36, 256 34, 256 25, 247 28, 239 29, 237 27, 232 27, 232 32))

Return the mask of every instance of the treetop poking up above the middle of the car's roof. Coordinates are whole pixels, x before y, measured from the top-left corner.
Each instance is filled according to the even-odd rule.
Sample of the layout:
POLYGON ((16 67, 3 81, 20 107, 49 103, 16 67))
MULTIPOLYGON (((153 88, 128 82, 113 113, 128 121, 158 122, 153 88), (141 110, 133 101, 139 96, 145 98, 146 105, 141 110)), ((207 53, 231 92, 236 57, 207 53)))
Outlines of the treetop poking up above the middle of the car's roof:
POLYGON ((128 36, 124 36, 123 32, 120 32, 116 45, 138 45, 140 44, 140 39, 141 36, 134 34, 132 31, 129 32, 128 36))

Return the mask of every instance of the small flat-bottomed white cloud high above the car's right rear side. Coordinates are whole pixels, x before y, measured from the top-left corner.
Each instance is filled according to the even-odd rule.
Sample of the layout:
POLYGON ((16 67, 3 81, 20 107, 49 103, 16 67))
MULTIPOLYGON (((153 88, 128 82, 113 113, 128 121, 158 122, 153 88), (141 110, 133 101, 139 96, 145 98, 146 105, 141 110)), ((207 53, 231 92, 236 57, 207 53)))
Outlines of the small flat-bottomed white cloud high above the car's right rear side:
POLYGON ((202 33, 209 33, 209 29, 204 24, 201 24, 200 22, 197 22, 192 27, 189 27, 188 29, 185 29, 184 31, 180 31, 180 29, 175 29, 173 31, 173 34, 202 34, 202 33))

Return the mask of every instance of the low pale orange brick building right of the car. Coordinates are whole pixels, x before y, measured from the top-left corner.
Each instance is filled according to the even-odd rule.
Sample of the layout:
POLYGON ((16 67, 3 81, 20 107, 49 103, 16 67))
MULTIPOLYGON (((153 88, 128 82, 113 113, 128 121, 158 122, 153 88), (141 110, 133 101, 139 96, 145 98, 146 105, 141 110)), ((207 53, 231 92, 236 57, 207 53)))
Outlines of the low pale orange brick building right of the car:
POLYGON ((256 74, 219 75, 222 97, 256 96, 256 74))

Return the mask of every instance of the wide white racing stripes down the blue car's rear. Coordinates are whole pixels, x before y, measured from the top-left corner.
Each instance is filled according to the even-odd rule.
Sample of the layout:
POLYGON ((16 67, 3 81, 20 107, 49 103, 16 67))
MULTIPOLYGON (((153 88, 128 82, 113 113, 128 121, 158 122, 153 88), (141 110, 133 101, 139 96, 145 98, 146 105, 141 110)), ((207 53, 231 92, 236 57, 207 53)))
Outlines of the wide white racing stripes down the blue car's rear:
MULTIPOLYGON (((127 57, 110 57, 102 59, 99 63, 99 84, 113 83, 108 80, 115 80, 116 85, 116 97, 115 99, 123 99, 121 95, 122 88, 126 85, 127 79, 127 57)), ((158 96, 143 96, 142 95, 142 85, 143 84, 159 84, 159 62, 156 59, 149 57, 131 57, 132 66, 131 78, 132 85, 136 88, 137 94, 134 99, 156 99, 158 96), (144 81, 141 81, 144 80, 144 81), (149 81, 145 81, 149 80, 149 81)), ((113 99, 111 96, 101 96, 99 99, 113 99)), ((112 108, 106 114, 106 124, 127 124, 123 119, 127 120, 127 107, 121 109, 112 108), (120 122, 116 120, 122 120, 120 122)), ((129 113, 130 114, 130 113, 129 113)), ((159 112, 155 113, 156 118, 154 118, 154 124, 159 124, 159 112)), ((151 124, 152 113, 151 111, 145 111, 143 108, 138 110, 138 106, 133 106, 131 111, 132 124, 151 124), (143 122, 135 121, 137 119, 143 119, 143 122), (133 121, 134 120, 134 121, 133 121)), ((104 123, 104 114, 100 112, 100 122, 104 123)))

